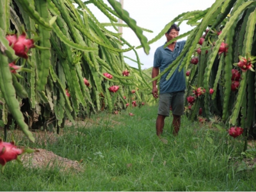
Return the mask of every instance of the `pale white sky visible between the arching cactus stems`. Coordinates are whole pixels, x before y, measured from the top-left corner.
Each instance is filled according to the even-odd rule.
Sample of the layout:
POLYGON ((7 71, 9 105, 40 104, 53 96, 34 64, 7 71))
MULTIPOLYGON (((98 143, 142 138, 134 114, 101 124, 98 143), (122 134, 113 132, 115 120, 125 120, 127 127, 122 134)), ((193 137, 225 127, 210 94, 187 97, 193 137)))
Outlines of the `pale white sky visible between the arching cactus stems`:
MULTIPOLYGON (((107 0, 103 1, 109 5, 107 0)), ((153 33, 143 31, 143 35, 145 35, 148 40, 152 40, 152 38, 161 32, 166 24, 179 14, 195 10, 205 10, 211 7, 213 3, 215 3, 215 0, 124 0, 124 10, 129 12, 132 19, 136 20, 137 26, 153 31, 153 33)), ((111 5, 109 6, 111 7, 111 5)), ((93 4, 88 4, 88 8, 90 8, 100 22, 109 22, 108 17, 101 13, 93 4)), ((180 25, 180 35, 191 29, 193 29, 193 27, 186 24, 186 21, 182 22, 180 25)), ((140 40, 129 28, 123 28, 122 37, 135 47, 140 45, 140 40)), ((186 40, 186 38, 182 38, 182 40, 186 40)), ((154 52, 157 47, 163 45, 165 41, 166 37, 163 36, 161 39, 157 40, 157 42, 150 44, 150 52, 148 55, 144 52, 143 48, 136 49, 140 57, 140 62, 143 64, 141 65, 142 69, 153 66, 154 52)), ((134 51, 125 52, 124 56, 136 60, 134 51)), ((138 68, 137 63, 126 58, 125 63, 131 67, 138 68)))

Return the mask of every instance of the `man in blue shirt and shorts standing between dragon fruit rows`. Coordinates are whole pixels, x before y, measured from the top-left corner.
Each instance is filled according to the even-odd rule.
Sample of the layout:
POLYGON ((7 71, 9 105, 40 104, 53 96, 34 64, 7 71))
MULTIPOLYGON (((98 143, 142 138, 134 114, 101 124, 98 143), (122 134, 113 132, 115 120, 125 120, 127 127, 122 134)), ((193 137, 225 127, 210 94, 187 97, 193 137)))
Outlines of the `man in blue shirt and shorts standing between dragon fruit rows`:
MULTIPOLYGON (((180 28, 176 24, 173 24, 170 29, 165 33, 166 42, 169 42, 173 38, 179 36, 180 28)), ((152 68, 152 78, 158 76, 159 70, 163 70, 172 64, 172 62, 179 56, 180 52, 184 48, 186 41, 173 42, 164 48, 164 45, 158 47, 154 54, 154 66, 152 68)), ((180 129, 180 116, 184 113, 184 94, 186 90, 186 80, 184 76, 184 70, 179 72, 179 67, 175 70, 172 77, 166 80, 168 72, 164 74, 159 83, 159 107, 158 116, 156 120, 156 134, 161 136, 163 134, 164 119, 170 115, 170 106, 172 107, 173 115, 173 135, 177 135, 180 129)), ((153 81, 152 94, 157 99, 157 80, 153 81)))

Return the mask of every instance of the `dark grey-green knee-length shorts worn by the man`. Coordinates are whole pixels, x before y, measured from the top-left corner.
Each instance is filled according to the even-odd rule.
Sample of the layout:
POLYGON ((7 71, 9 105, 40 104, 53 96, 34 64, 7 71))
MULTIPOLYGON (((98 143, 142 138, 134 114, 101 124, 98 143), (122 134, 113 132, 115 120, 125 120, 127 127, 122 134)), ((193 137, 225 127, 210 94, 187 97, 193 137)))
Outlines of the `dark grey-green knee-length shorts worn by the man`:
POLYGON ((159 95, 158 115, 169 116, 170 106, 173 115, 183 115, 184 113, 185 91, 162 93, 159 95))

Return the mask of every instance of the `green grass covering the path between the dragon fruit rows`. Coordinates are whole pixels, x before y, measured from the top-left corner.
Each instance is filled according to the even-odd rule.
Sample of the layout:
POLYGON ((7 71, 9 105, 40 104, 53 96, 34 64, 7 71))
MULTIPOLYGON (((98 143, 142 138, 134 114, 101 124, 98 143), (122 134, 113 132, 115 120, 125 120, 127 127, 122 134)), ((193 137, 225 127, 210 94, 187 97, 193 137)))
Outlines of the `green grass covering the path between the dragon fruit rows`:
POLYGON ((241 138, 233 140, 227 132, 189 122, 186 116, 174 137, 169 117, 164 144, 156 136, 156 106, 129 112, 134 116, 128 111, 93 115, 90 127, 65 127, 55 143, 21 141, 83 159, 84 172, 25 168, 13 161, 0 175, 0 191, 255 191, 255 170, 236 166, 243 159, 241 138))

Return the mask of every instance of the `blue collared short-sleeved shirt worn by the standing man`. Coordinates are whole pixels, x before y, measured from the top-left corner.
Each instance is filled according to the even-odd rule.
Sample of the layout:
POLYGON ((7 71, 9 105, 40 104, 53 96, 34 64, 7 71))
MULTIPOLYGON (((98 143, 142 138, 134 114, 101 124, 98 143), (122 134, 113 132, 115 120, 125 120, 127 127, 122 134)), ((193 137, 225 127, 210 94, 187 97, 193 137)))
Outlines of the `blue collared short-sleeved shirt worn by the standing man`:
MULTIPOLYGON (((164 48, 164 45, 158 47, 154 54, 154 67, 159 67, 160 72, 163 72, 163 70, 172 64, 177 56, 179 56, 185 43, 185 40, 176 42, 173 51, 171 51, 168 47, 164 48)), ((177 67, 170 79, 166 80, 169 72, 170 70, 166 72, 166 74, 164 74, 160 79, 160 93, 172 93, 186 90, 184 68, 182 68, 182 70, 179 72, 179 67, 177 67)))

